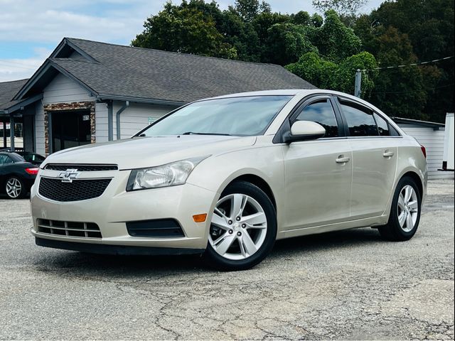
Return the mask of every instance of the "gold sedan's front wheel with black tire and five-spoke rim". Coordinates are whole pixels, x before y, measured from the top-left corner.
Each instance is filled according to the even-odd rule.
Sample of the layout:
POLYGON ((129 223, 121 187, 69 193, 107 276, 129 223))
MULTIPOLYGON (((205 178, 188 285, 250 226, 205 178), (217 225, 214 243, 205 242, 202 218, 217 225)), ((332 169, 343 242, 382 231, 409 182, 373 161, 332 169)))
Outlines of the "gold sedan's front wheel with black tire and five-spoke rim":
POLYGON ((269 197, 245 181, 232 183, 215 205, 205 259, 223 271, 250 269, 269 253, 277 238, 277 214, 269 197))

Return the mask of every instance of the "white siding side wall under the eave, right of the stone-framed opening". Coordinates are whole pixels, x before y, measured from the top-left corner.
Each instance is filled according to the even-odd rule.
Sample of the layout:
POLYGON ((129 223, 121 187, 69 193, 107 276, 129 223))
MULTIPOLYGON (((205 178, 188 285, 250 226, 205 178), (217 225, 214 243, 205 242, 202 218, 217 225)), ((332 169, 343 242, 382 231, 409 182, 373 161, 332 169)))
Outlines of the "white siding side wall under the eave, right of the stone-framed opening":
MULTIPOLYGON (((117 139, 117 112, 123 104, 124 102, 117 101, 113 104, 112 120, 114 125, 114 140, 117 139)), ((122 114, 120 114, 122 139, 128 139, 147 126, 149 124, 149 117, 151 117, 151 119, 159 119, 173 109, 176 109, 176 107, 130 102, 129 107, 124 109, 122 114)))

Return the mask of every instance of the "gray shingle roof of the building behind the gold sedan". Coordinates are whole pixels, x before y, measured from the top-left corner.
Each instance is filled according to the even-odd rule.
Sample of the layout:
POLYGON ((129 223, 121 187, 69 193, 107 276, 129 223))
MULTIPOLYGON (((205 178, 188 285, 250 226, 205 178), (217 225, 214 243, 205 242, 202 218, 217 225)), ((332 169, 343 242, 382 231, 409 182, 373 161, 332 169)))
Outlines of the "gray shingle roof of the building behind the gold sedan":
POLYGON ((97 63, 50 60, 100 95, 191 102, 234 92, 316 88, 279 65, 66 39, 97 63))

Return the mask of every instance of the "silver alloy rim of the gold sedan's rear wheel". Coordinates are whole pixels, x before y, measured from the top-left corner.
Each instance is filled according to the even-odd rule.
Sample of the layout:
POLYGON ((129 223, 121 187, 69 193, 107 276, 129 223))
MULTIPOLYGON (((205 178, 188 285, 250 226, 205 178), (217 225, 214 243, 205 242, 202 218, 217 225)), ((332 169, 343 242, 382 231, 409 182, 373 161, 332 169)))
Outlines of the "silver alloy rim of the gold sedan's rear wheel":
POLYGON ((405 232, 412 231, 419 216, 419 202, 417 201, 417 193, 411 185, 405 185, 400 191, 397 210, 398 222, 402 230, 405 232))

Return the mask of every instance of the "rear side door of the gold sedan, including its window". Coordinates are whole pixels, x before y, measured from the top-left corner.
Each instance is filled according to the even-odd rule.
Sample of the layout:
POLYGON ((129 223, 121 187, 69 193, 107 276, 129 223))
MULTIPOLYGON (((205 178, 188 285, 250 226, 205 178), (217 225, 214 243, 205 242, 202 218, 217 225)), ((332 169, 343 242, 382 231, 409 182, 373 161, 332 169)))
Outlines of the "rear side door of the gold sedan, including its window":
POLYGON ((353 151, 350 213, 353 219, 382 215, 392 194, 397 169, 397 136, 372 109, 338 98, 353 151))

